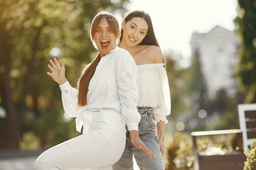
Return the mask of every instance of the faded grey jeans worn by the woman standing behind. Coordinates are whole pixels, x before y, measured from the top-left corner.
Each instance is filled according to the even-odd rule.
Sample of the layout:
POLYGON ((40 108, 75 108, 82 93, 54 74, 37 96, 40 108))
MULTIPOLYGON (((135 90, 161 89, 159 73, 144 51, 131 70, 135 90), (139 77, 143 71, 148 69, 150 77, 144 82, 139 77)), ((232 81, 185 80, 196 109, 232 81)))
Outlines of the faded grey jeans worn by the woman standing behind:
POLYGON ((122 157, 113 165, 113 170, 133 170, 132 154, 140 170, 164 170, 160 143, 155 135, 152 107, 137 107, 141 114, 139 123, 139 136, 143 143, 153 151, 156 158, 149 158, 145 152, 131 143, 131 135, 126 126, 126 146, 122 157))

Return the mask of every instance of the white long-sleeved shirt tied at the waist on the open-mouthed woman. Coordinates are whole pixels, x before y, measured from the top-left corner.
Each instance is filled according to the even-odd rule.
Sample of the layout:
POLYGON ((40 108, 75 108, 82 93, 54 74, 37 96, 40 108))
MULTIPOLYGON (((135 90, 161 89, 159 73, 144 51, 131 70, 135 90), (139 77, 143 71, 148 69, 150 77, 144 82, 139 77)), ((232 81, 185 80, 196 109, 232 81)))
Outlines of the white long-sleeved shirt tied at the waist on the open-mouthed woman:
MULTIPOLYGON (((78 105, 77 89, 72 88, 68 82, 60 85, 64 111, 69 117, 77 117, 77 131, 80 132, 83 125, 83 133, 89 132, 92 111, 96 110, 101 111, 105 122, 113 130, 118 129, 116 124, 123 122, 129 130, 138 131, 141 116, 137 110, 137 77, 138 69, 130 53, 116 47, 102 57, 97 65, 89 83, 86 106, 78 105), (103 113, 102 110, 107 108, 115 112, 103 113)), ((126 138, 125 133, 120 135, 126 138)))

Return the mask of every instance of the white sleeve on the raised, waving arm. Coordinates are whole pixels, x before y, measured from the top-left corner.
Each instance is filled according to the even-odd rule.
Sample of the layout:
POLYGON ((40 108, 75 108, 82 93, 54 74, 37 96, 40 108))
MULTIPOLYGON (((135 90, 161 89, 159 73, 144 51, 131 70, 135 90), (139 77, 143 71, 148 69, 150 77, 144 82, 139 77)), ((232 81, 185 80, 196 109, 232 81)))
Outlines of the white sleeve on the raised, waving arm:
POLYGON ((77 110, 80 108, 80 105, 78 105, 77 89, 71 87, 69 82, 66 81, 60 85, 60 90, 65 114, 68 117, 77 117, 77 110))

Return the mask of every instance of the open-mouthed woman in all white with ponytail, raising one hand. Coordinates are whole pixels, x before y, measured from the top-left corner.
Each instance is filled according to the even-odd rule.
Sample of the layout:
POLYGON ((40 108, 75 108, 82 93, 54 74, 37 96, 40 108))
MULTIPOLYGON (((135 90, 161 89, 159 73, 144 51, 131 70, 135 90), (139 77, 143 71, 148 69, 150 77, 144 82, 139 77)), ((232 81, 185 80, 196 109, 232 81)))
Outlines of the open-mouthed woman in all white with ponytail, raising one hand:
POLYGON ((35 163, 37 170, 112 170, 125 148, 125 124, 132 143, 155 158, 138 134, 138 71, 128 51, 116 47, 119 35, 111 13, 94 17, 91 40, 99 54, 83 69, 78 90, 65 78, 65 61, 60 67, 55 58, 55 63, 50 60, 52 73, 47 74, 59 83, 65 113, 76 117, 77 131, 83 126, 83 135, 46 150, 35 163))

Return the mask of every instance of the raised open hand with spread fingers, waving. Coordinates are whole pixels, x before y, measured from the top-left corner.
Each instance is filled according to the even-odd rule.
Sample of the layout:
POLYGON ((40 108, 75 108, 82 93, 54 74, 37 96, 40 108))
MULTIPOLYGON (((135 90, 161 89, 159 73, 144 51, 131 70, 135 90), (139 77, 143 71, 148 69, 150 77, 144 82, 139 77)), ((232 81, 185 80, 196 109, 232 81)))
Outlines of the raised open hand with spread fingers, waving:
POLYGON ((50 64, 52 65, 52 67, 50 66, 50 64, 48 64, 48 68, 51 70, 52 73, 47 72, 47 74, 51 76, 52 79, 54 79, 54 81, 56 81, 59 85, 64 84, 67 81, 67 79, 65 78, 65 61, 62 62, 60 67, 57 59, 53 58, 53 60, 55 64, 52 60, 50 60, 50 64))

